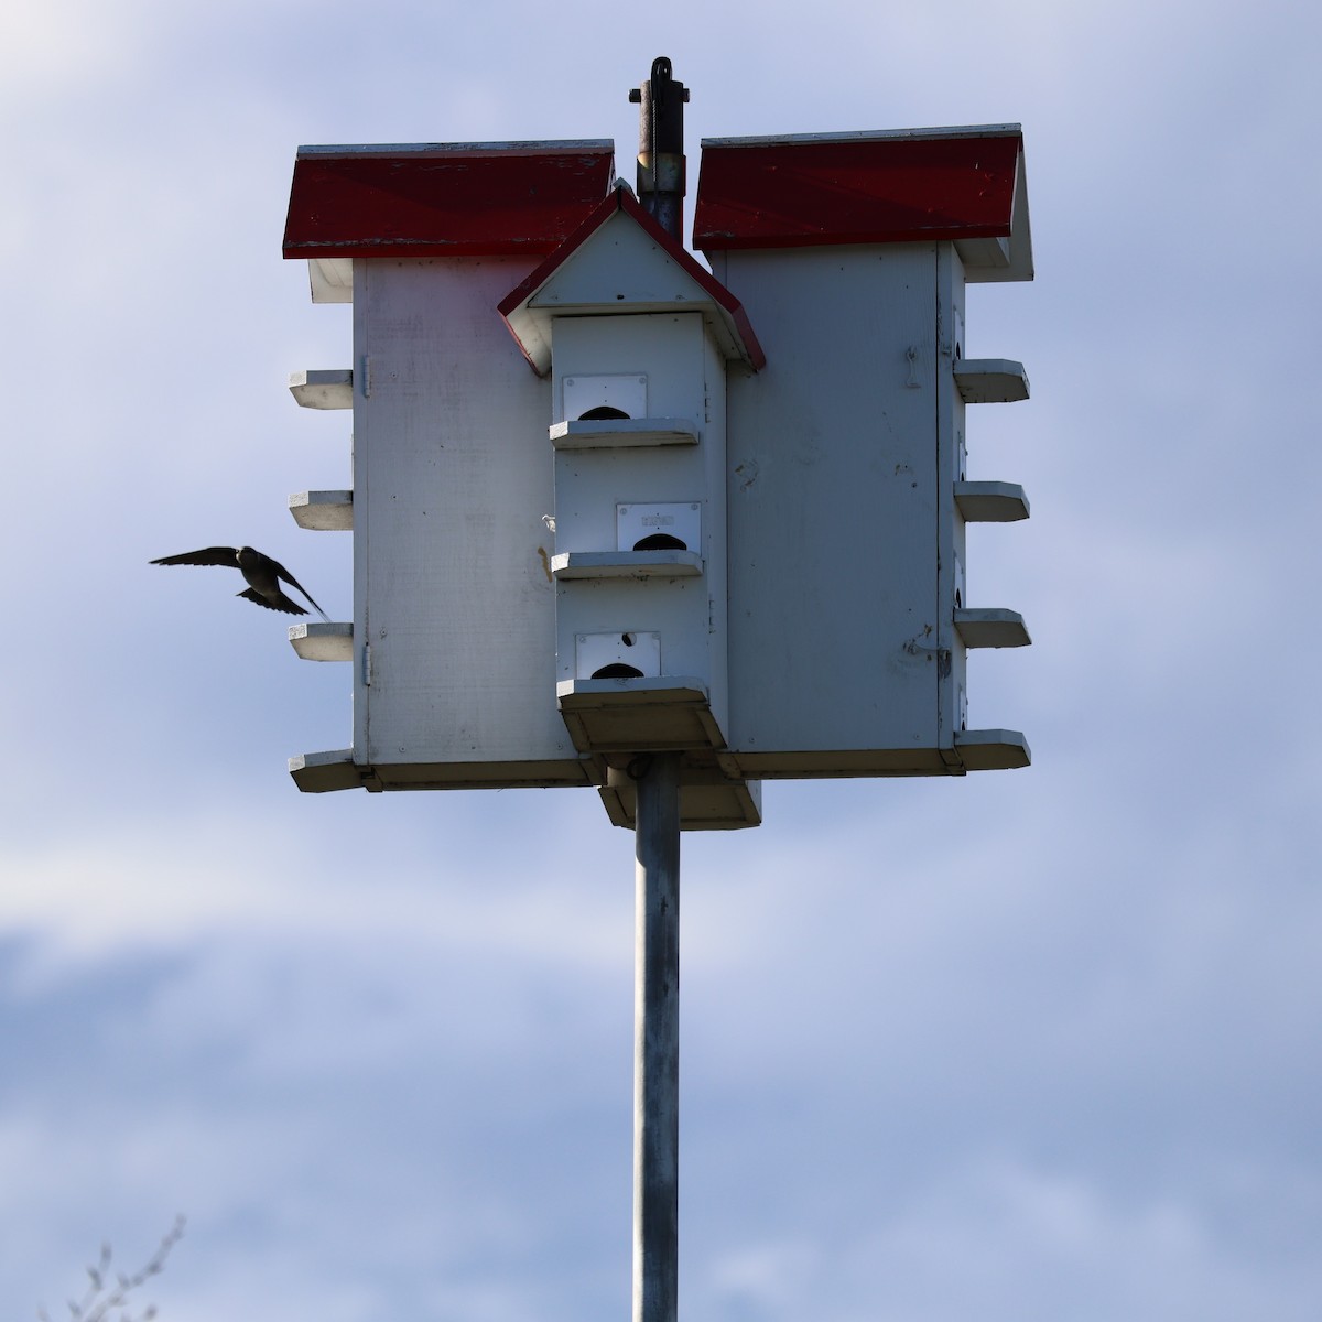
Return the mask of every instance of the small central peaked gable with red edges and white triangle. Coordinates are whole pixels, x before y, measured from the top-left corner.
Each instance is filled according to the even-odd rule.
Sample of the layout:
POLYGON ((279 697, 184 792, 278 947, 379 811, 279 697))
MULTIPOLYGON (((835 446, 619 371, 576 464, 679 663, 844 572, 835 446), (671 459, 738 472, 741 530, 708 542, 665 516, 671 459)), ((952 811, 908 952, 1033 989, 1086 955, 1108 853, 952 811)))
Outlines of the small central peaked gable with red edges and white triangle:
POLYGON ((743 304, 623 184, 498 305, 538 375, 551 366, 553 316, 701 312, 726 358, 767 361, 743 304))

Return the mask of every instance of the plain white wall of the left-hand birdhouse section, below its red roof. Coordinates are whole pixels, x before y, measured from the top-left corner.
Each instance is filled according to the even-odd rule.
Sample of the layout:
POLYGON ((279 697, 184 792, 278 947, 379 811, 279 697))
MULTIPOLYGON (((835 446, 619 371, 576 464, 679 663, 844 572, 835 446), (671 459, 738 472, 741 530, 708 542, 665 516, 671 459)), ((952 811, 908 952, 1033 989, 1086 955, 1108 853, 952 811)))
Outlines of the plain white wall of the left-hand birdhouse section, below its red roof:
POLYGON ((354 270, 354 760, 588 783, 554 702, 550 385, 494 304, 518 258, 354 270), (485 768, 485 769, 484 769, 485 768))

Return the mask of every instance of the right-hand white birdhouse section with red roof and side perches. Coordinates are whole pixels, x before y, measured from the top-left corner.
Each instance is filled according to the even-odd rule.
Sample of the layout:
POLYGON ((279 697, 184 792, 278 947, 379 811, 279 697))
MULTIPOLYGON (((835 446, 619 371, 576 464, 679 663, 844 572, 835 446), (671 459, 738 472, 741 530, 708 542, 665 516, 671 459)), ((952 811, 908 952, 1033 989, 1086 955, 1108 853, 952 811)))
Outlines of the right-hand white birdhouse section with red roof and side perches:
POLYGON ((694 243, 767 358, 730 377, 728 760, 1026 765, 969 726, 968 653, 1029 635, 974 604, 965 531, 1029 514, 966 459, 968 406, 1029 394, 965 333, 966 283, 1032 276, 1018 126, 706 140, 694 243))

